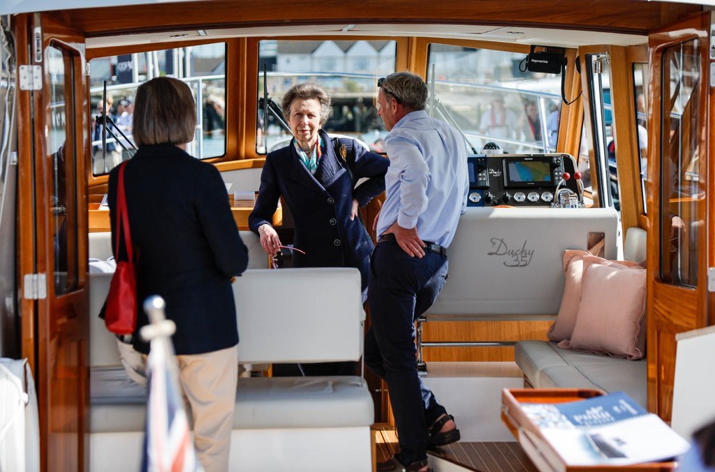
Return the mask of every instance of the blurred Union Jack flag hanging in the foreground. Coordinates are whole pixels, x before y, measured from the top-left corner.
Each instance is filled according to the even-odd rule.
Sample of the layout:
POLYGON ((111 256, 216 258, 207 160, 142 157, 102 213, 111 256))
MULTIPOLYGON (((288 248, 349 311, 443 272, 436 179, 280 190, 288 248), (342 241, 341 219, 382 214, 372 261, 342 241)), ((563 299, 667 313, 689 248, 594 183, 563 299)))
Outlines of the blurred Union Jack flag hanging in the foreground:
POLYGON ((168 336, 152 338, 147 367, 149 398, 142 472, 203 472, 189 433, 168 336))

